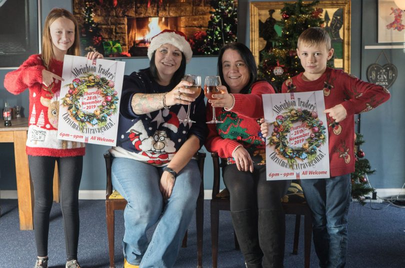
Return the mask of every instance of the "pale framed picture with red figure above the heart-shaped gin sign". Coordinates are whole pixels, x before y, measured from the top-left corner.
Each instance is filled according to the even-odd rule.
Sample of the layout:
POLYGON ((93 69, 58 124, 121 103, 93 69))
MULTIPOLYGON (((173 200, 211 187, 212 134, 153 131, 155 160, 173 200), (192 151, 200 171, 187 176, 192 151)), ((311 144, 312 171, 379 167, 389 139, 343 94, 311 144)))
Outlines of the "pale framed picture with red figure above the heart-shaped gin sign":
POLYGON ((393 0, 378 0, 378 42, 405 42, 405 11, 393 0))

